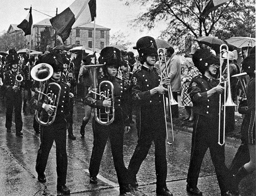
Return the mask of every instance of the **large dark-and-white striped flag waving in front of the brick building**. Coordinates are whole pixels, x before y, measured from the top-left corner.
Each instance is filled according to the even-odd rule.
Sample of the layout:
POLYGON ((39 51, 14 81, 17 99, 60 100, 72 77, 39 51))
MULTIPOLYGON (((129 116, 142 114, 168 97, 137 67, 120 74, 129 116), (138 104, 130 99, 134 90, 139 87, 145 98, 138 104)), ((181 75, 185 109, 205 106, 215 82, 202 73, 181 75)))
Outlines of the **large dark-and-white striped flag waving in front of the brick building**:
POLYGON ((57 35, 64 42, 71 29, 94 21, 96 17, 96 0, 75 0, 67 9, 50 19, 57 35))

